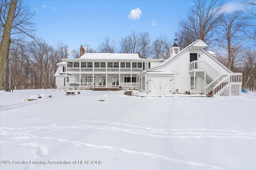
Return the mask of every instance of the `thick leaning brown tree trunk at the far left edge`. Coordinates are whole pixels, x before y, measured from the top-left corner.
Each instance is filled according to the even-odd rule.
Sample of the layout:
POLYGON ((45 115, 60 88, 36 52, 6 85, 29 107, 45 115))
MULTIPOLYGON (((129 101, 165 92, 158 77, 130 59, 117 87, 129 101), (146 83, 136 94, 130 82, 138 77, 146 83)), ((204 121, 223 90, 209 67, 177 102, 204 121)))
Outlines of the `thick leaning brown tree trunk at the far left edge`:
POLYGON ((8 55, 8 47, 10 40, 10 33, 12 30, 12 23, 14 20, 14 15, 16 11, 18 0, 11 0, 6 23, 4 24, 4 31, 2 35, 2 41, 0 45, 0 86, 2 86, 2 78, 4 74, 4 64, 6 62, 6 56, 8 55))

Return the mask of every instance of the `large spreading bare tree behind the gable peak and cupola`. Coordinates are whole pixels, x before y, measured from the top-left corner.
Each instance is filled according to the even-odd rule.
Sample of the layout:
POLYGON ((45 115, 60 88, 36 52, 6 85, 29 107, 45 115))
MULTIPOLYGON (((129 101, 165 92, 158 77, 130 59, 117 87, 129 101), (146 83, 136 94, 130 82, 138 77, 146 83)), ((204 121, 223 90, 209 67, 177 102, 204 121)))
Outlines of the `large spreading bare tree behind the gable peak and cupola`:
POLYGON ((220 24, 224 15, 224 2, 218 0, 195 0, 189 10, 188 18, 178 24, 178 32, 175 34, 181 48, 191 44, 197 39, 210 43, 214 40, 214 31, 220 24))

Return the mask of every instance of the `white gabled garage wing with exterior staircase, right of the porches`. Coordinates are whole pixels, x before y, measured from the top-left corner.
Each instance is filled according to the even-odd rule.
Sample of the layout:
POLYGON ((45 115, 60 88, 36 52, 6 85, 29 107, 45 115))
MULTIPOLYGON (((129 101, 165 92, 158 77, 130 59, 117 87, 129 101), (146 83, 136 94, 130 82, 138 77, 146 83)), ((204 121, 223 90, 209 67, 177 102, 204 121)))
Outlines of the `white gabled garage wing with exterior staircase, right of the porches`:
POLYGON ((207 46, 198 39, 158 66, 143 70, 137 75, 139 89, 148 94, 239 96, 242 73, 229 70, 214 58, 215 53, 204 50, 207 46))

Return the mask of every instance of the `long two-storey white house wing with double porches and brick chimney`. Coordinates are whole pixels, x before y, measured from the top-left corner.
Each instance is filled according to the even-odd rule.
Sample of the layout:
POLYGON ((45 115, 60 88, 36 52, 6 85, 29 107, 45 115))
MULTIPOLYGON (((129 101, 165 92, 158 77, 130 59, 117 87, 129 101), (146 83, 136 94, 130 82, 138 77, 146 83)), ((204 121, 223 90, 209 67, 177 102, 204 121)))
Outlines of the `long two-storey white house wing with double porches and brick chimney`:
POLYGON ((164 59, 146 59, 138 54, 83 53, 79 59, 62 59, 58 63, 56 88, 136 88, 137 74, 158 66, 164 59))

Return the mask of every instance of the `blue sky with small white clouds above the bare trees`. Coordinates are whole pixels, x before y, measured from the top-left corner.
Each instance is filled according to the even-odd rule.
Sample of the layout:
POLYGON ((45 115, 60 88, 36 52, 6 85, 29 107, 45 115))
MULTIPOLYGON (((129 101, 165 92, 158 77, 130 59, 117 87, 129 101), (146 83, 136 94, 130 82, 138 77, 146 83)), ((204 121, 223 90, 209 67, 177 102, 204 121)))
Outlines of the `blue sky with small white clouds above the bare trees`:
MULTIPOLYGON (((238 1, 228 1, 236 4, 238 1)), ((106 36, 114 39, 119 47, 121 37, 149 32, 151 42, 159 35, 174 39, 178 21, 186 18, 192 0, 25 0, 32 12, 37 35, 48 44, 60 40, 71 50, 89 44, 93 49, 106 36)), ((229 5, 232 8, 235 5, 229 5)))

